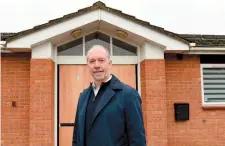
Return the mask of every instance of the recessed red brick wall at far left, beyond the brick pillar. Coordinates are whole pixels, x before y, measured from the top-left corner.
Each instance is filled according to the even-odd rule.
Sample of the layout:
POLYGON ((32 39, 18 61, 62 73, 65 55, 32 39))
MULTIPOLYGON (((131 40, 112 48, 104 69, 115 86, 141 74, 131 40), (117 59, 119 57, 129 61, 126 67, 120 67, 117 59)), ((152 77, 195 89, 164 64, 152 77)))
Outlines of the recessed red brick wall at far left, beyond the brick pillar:
POLYGON ((29 144, 29 77, 30 54, 1 54, 2 146, 29 144))

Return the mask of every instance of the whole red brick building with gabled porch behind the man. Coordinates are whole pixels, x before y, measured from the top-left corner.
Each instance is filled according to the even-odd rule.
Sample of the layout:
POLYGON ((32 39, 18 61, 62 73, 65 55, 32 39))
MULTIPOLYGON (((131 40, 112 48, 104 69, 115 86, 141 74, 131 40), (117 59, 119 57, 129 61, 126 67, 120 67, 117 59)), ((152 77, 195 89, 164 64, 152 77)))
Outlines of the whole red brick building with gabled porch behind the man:
POLYGON ((142 97, 148 146, 225 145, 225 36, 176 34, 102 2, 2 33, 1 145, 71 145, 88 48, 142 97))

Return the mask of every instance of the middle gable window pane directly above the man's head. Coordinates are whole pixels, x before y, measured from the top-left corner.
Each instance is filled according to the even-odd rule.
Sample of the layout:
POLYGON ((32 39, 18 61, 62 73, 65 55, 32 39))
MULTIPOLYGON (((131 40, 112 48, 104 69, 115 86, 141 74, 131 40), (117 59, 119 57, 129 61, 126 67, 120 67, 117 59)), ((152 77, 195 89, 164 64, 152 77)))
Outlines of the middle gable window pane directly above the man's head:
POLYGON ((93 45, 102 45, 110 52, 110 37, 100 32, 85 36, 85 55, 93 45))

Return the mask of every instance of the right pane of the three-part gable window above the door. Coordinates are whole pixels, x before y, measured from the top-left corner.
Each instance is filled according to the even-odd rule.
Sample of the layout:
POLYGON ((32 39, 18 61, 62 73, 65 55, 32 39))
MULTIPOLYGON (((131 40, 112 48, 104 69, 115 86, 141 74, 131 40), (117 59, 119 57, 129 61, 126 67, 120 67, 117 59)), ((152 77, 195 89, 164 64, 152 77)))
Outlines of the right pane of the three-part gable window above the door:
POLYGON ((137 48, 113 38, 113 56, 136 56, 137 48))

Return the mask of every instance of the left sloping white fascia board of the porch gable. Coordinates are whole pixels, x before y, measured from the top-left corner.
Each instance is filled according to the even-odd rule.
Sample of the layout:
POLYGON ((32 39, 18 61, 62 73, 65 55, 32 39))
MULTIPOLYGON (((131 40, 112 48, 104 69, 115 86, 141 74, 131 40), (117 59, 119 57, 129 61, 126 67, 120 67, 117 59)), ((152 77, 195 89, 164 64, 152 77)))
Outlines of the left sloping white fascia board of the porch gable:
POLYGON ((76 29, 88 23, 97 21, 99 18, 99 11, 95 10, 90 13, 72 18, 65 22, 53 25, 27 36, 23 36, 12 42, 8 42, 7 48, 31 48, 32 45, 49 40, 59 34, 76 29))

